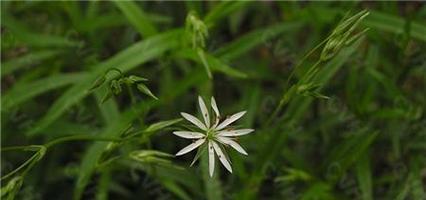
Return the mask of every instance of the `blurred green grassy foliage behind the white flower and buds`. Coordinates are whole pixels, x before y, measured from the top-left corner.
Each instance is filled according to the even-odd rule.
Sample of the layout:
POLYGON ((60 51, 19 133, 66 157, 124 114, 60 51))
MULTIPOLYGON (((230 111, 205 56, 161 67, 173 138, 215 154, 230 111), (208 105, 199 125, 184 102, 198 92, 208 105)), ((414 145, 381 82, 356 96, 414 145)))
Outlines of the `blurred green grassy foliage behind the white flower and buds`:
POLYGON ((2 1, 2 198, 426 199, 425 42, 421 1, 2 1), (284 95, 339 22, 362 10, 356 32, 368 31, 314 77, 329 98, 284 95), (196 50, 189 13, 208 29, 196 50), (101 103, 108 87, 88 89, 110 68, 149 79, 159 100, 132 87, 101 103), (195 153, 127 156, 186 146, 171 134, 182 124, 166 120, 197 113, 199 94, 224 114, 247 110, 238 125, 256 129, 239 139, 247 157, 228 151, 233 174, 217 165, 210 178, 205 160, 189 167, 195 153), (129 125, 144 131, 90 139, 124 137, 129 125), (70 135, 89 141, 4 149, 70 135))

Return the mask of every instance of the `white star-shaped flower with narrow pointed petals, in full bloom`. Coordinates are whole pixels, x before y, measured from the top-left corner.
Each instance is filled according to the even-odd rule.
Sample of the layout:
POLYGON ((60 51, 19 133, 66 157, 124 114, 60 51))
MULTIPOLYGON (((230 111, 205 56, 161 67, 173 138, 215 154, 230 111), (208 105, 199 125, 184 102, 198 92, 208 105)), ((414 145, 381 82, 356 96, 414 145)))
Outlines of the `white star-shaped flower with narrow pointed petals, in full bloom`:
MULTIPOLYGON (((233 114, 227 117, 224 121, 219 123, 220 114, 219 109, 217 108, 216 101, 214 97, 211 98, 211 107, 214 111, 213 120, 210 119, 209 112, 207 110, 206 104, 203 99, 199 96, 198 103, 200 105, 201 114, 203 115, 204 123, 199 119, 190 115, 188 113, 182 112, 181 115, 183 118, 194 124, 200 129, 199 132, 194 131, 174 131, 173 134, 186 138, 186 139, 194 139, 194 142, 179 152, 176 153, 176 156, 180 156, 186 154, 197 147, 204 147, 207 145, 209 152, 209 172, 210 176, 213 176, 214 172, 214 162, 215 162, 215 152, 219 157, 220 162, 225 166, 225 168, 232 173, 231 164, 229 158, 224 154, 223 146, 230 146, 237 150, 238 152, 247 155, 247 152, 237 143, 234 138, 237 136, 247 135, 253 132, 253 129, 239 129, 239 130, 229 130, 225 129, 228 125, 237 121, 241 118, 246 111, 242 111, 236 114, 233 114)), ((226 152, 225 152, 226 153, 226 152)), ((192 164, 198 159, 198 154, 194 158, 192 164)), ((192 165, 191 164, 191 165, 192 165)))

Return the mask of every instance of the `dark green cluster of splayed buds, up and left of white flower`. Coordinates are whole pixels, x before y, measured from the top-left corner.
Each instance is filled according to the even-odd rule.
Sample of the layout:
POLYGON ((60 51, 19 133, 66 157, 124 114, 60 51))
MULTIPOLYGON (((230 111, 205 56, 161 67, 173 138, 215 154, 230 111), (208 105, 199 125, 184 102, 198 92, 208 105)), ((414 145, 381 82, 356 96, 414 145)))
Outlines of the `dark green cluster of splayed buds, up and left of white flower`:
POLYGON ((109 81, 109 83, 108 83, 109 90, 105 94, 105 96, 102 98, 101 103, 104 103, 105 101, 110 99, 112 97, 112 95, 120 94, 123 91, 123 89, 122 89, 123 86, 128 87, 129 90, 131 90, 132 85, 136 85, 136 88, 140 92, 152 97, 155 100, 158 100, 158 98, 151 92, 151 90, 149 90, 149 88, 145 84, 143 84, 143 82, 148 81, 148 79, 142 78, 142 77, 139 77, 139 76, 135 76, 135 75, 130 75, 130 76, 127 76, 127 77, 123 76, 122 72, 119 69, 116 69, 116 68, 112 68, 112 69, 108 70, 107 72, 105 72, 105 74, 103 74, 101 77, 96 79, 89 90, 94 90, 94 89, 100 87, 101 85, 103 85, 107 81, 108 72, 113 71, 113 70, 117 71, 120 74, 120 76, 118 78, 114 78, 111 81, 109 81))

